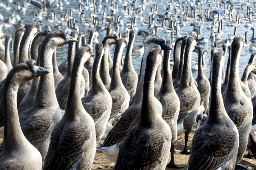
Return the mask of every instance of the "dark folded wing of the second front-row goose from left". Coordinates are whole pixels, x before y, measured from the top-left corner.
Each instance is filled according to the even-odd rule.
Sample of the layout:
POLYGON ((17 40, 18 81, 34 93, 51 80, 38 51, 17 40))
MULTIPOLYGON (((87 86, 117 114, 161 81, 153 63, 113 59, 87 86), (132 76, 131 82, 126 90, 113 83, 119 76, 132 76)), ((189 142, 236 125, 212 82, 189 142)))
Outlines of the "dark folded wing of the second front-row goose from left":
POLYGON ((82 155, 82 146, 92 133, 80 123, 65 126, 60 121, 52 131, 43 170, 65 170, 82 155))

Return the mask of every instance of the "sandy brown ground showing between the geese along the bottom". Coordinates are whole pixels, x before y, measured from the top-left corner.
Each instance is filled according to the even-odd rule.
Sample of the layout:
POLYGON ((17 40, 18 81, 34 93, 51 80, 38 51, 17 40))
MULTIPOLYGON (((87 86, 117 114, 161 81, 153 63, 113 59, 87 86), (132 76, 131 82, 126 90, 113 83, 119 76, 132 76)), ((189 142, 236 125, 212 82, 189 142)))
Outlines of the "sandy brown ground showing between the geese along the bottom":
MULTIPOLYGON (((190 149, 192 139, 193 139, 195 132, 196 132, 196 124, 194 124, 192 132, 189 134, 188 150, 190 149)), ((177 139, 178 139, 178 141, 177 141, 175 149, 183 150, 184 144, 185 144, 184 134, 177 136, 177 139)), ((2 139, 0 139, 0 142, 2 142, 2 139)), ((246 150, 246 153, 248 153, 248 149, 246 150)), ((99 169, 112 170, 113 169, 113 163, 110 160, 108 160, 104 156, 104 154, 102 154, 102 151, 96 151, 95 157, 99 157, 99 159, 97 161, 102 161, 102 162, 99 164, 93 164, 92 170, 99 170, 99 169)), ((180 154, 179 152, 174 153, 175 163, 178 164, 179 166, 184 166, 184 168, 182 168, 180 170, 187 169, 186 165, 188 162, 188 158, 189 158, 189 155, 180 154)), ((171 155, 169 156, 168 162, 170 162, 170 159, 171 159, 171 155)), ((252 158, 252 159, 243 158, 241 160, 240 164, 247 164, 247 165, 249 165, 249 167, 248 167, 249 170, 256 170, 256 160, 254 158, 252 158)), ((176 169, 166 168, 166 170, 176 170, 176 169)))

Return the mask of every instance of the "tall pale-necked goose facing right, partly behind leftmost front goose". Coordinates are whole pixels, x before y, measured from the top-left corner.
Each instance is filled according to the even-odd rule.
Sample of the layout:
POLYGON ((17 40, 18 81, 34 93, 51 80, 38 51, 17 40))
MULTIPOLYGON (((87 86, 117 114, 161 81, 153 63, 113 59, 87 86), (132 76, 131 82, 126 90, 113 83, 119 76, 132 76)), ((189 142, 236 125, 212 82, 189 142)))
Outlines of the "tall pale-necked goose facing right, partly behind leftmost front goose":
POLYGON ((40 65, 48 69, 50 73, 40 77, 33 107, 19 115, 22 132, 28 141, 39 150, 43 166, 52 130, 62 118, 54 93, 52 54, 57 47, 74 41, 76 40, 66 35, 63 30, 51 32, 46 36, 40 48, 40 65), (35 125, 31 125, 30 122, 37 122, 36 130, 32 130, 35 125))

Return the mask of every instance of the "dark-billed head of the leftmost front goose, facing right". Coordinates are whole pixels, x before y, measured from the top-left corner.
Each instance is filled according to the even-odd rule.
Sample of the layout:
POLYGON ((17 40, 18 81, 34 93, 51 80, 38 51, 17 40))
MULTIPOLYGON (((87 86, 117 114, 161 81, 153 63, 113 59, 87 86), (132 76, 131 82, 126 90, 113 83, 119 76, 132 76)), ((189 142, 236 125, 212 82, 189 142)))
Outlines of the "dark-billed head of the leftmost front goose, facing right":
POLYGON ((44 69, 43 67, 39 67, 36 65, 36 61, 33 59, 29 59, 26 63, 21 63, 13 67, 10 71, 10 75, 15 74, 15 81, 23 84, 27 81, 34 79, 34 77, 39 77, 40 75, 44 75, 50 73, 48 69, 44 69))

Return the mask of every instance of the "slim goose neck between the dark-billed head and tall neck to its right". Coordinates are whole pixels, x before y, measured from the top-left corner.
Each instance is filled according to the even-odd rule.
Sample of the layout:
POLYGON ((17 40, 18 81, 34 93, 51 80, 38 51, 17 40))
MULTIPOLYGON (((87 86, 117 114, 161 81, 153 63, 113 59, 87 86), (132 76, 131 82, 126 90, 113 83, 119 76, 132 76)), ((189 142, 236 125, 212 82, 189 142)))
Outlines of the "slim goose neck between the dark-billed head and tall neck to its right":
POLYGON ((172 69, 172 78, 173 79, 176 79, 178 70, 179 70, 181 43, 182 43, 182 40, 178 41, 174 45, 174 51, 173 51, 174 64, 173 64, 173 69, 172 69))

